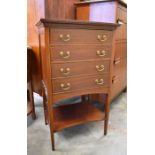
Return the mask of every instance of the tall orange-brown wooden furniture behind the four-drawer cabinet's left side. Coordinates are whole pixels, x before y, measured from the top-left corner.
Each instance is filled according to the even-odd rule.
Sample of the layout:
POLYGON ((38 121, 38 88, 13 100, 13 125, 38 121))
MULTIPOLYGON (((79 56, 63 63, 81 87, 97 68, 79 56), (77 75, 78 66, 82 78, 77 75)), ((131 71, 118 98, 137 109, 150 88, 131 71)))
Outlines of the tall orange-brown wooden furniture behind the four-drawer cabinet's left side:
POLYGON ((78 0, 27 0, 27 44, 33 49, 32 79, 34 91, 41 94, 41 56, 35 24, 40 18, 75 19, 78 0))

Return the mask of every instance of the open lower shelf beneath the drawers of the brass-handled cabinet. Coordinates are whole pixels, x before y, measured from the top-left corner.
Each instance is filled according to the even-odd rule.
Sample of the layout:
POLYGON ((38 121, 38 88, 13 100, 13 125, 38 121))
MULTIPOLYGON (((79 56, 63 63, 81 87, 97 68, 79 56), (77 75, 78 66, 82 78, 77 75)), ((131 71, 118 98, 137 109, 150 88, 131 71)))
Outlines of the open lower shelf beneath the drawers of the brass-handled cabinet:
POLYGON ((104 120, 105 114, 90 103, 76 103, 53 108, 54 132, 90 121, 104 120))

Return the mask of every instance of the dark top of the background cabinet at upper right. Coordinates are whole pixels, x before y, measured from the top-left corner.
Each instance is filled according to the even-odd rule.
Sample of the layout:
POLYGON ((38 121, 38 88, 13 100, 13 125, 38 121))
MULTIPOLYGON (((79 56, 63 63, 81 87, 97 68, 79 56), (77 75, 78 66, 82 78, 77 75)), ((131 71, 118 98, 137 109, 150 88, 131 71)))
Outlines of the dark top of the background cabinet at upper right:
POLYGON ((85 1, 82 1, 82 2, 75 3, 75 5, 88 4, 88 3, 97 3, 97 2, 110 2, 110 1, 117 1, 120 4, 122 4, 124 6, 127 6, 127 3, 124 0, 93 0, 93 1, 85 0, 85 1))

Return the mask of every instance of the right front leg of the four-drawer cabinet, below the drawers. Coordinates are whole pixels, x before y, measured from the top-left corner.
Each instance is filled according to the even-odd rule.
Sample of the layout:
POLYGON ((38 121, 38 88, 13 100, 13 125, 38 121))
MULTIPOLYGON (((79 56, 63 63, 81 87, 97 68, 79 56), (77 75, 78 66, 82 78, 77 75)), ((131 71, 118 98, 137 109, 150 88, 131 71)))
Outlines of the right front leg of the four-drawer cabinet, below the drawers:
POLYGON ((104 135, 107 135, 108 132, 109 109, 110 109, 110 96, 107 94, 105 100, 104 135))

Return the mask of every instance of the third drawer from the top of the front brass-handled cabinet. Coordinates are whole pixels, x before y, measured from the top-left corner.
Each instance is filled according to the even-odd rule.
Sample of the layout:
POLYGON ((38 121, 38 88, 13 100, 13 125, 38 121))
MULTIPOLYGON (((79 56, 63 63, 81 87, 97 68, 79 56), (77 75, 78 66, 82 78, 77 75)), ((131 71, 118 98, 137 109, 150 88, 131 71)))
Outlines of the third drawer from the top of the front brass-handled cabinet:
POLYGON ((52 78, 103 74, 109 72, 109 69, 108 60, 52 63, 52 78))

